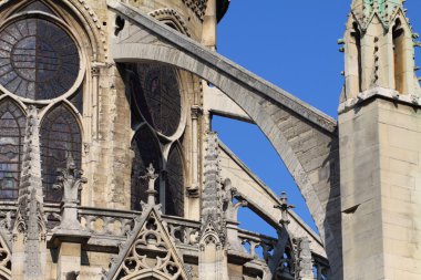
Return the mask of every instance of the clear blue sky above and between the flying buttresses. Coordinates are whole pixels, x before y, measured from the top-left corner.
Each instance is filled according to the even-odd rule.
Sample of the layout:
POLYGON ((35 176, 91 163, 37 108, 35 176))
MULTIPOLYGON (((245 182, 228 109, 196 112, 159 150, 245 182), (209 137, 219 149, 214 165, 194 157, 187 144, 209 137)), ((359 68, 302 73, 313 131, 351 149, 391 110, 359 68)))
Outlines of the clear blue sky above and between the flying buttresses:
MULTIPOLYGON (((350 2, 232 0, 218 25, 218 52, 337 117, 343 84, 343 54, 338 51, 337 40, 343 37, 350 2)), ((408 0, 405 8, 414 31, 421 33, 421 0, 408 0)), ((421 65, 420 48, 415 54, 421 65)), ((277 194, 287 190, 296 211, 314 225, 294 180, 256 126, 215 117, 213 128, 277 194)), ((274 234, 246 210, 240 211, 239 220, 248 221, 243 222, 243 228, 258 227, 264 234, 274 234)))

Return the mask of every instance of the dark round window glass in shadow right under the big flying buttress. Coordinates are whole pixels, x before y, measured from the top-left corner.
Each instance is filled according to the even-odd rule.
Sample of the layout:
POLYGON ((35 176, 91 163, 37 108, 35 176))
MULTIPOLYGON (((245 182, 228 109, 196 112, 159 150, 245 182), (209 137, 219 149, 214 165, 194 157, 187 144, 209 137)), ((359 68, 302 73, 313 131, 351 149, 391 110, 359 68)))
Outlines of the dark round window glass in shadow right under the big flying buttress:
POLYGON ((179 125, 182 97, 177 73, 167 65, 137 64, 138 79, 132 79, 133 100, 145 121, 171 136, 179 125))

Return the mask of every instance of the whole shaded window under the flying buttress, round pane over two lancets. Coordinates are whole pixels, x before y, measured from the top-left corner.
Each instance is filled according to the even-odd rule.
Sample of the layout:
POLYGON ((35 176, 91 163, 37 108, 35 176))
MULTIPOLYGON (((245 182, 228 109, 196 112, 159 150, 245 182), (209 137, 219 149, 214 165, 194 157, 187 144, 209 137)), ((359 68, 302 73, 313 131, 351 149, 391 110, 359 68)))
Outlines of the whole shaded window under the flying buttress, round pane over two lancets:
POLYGON ((132 165, 132 208, 138 209, 138 201, 146 199, 146 183, 138 178, 152 163, 160 170, 156 188, 165 212, 183 216, 182 151, 173 147, 168 156, 164 157, 164 148, 175 145, 174 142, 181 136, 176 135, 182 126, 182 95, 177 73, 174 68, 162 64, 136 63, 127 64, 125 69, 130 73, 127 83, 133 101, 132 127, 136 131, 135 127, 143 123, 142 128, 136 131, 132 145, 135 154, 132 165), (145 127, 150 127, 150 133, 144 132, 145 127), (151 143, 156 143, 155 148, 151 147, 151 143), (152 158, 151 153, 158 156, 152 158))

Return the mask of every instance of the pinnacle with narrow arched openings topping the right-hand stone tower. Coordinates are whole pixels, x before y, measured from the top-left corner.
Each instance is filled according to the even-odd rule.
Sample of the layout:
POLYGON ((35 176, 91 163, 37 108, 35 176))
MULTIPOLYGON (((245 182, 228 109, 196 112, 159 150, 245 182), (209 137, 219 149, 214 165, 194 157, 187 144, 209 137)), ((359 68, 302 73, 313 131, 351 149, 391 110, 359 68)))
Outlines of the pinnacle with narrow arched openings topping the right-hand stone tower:
POLYGON ((419 104, 421 87, 415 75, 418 35, 405 17, 403 0, 353 0, 345 44, 346 85, 341 101, 374 94, 419 104))

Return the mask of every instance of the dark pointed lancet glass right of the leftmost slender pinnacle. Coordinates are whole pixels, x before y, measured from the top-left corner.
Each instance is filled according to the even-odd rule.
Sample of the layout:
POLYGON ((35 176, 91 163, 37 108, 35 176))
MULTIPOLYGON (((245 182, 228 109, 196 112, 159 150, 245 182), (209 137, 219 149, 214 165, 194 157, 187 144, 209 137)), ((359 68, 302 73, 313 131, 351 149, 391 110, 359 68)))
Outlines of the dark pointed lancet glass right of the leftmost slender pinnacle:
POLYGON ((52 188, 57 169, 66 165, 71 153, 81 168, 81 132, 76 118, 65 105, 53 108, 41 124, 41 164, 45 201, 61 201, 62 193, 52 188))

